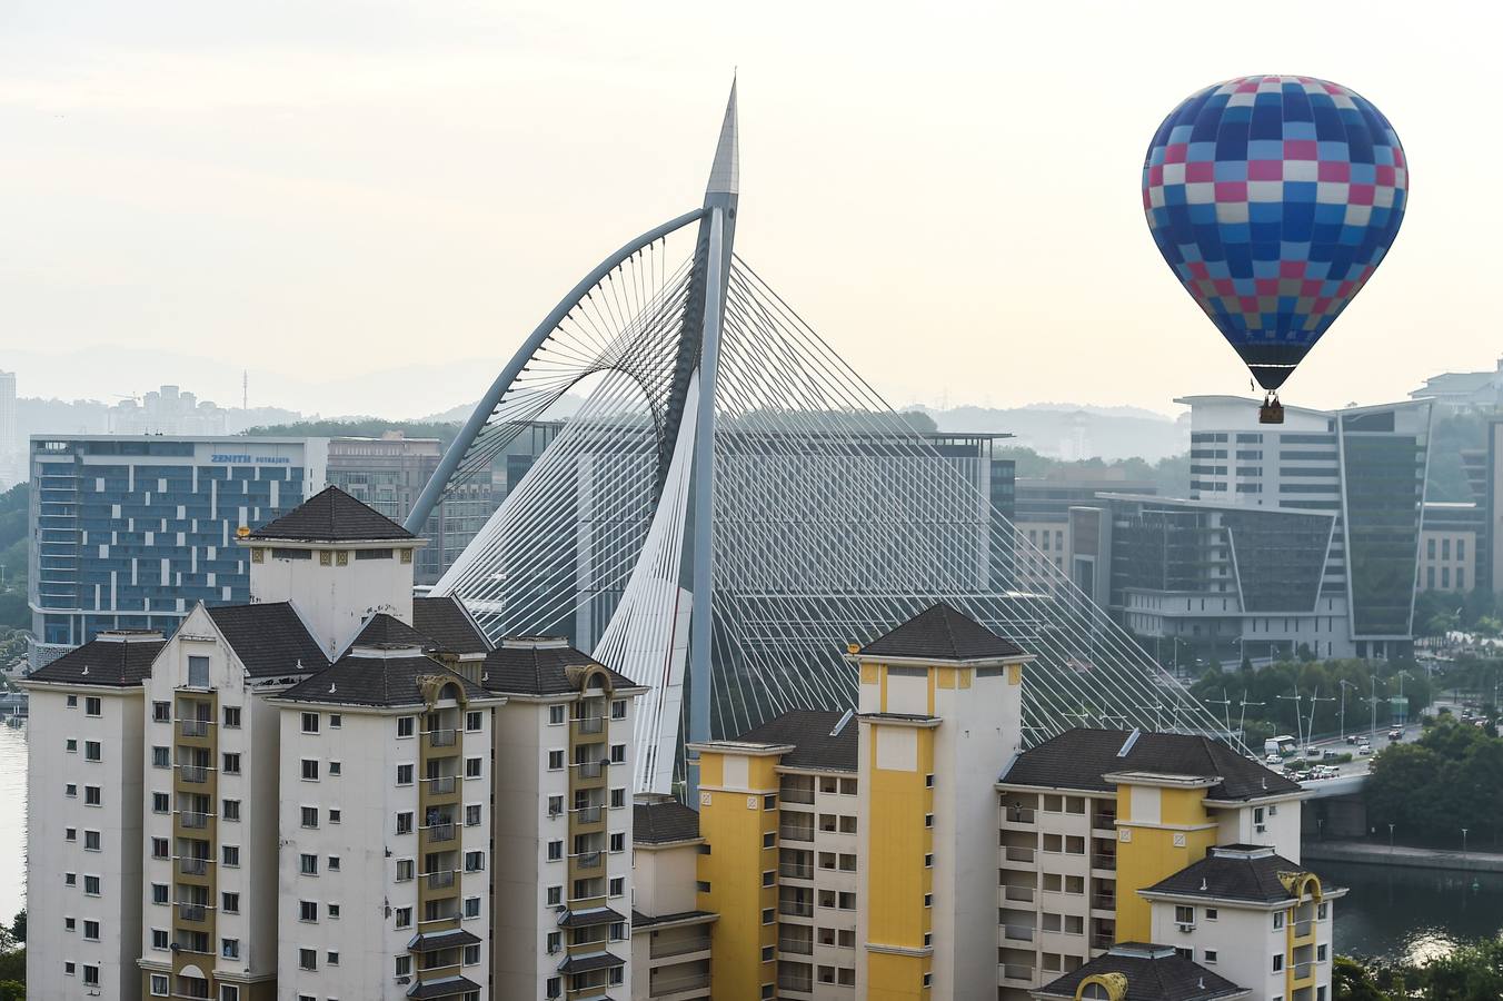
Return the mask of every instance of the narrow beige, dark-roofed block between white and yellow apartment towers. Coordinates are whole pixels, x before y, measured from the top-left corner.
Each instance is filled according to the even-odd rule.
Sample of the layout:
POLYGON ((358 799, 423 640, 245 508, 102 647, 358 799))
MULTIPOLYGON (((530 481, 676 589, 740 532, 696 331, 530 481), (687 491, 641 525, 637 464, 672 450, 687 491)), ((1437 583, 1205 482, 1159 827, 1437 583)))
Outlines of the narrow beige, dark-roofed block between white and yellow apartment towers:
POLYGON ((699 813, 640 792, 631 806, 631 998, 709 1001, 715 914, 697 908, 699 813))

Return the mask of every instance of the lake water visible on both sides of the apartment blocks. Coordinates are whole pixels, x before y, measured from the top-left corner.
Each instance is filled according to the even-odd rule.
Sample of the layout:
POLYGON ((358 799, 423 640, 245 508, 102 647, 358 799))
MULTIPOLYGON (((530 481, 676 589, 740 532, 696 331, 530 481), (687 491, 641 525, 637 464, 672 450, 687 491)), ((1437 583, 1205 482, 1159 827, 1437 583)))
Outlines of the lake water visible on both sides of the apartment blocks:
MULTIPOLYGON (((0 921, 26 906, 26 730, 0 726, 0 921)), ((1350 887, 1336 905, 1336 951, 1423 959, 1503 932, 1503 873, 1318 863, 1350 887)))

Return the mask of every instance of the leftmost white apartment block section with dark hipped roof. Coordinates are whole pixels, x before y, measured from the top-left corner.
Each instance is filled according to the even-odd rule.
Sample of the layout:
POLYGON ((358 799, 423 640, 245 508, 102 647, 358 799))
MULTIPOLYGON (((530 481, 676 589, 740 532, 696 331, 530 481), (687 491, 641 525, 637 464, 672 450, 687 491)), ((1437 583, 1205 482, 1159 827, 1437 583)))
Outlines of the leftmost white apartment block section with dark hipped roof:
POLYGON ((162 645, 104 633, 26 681, 32 998, 141 996, 141 679, 162 645))

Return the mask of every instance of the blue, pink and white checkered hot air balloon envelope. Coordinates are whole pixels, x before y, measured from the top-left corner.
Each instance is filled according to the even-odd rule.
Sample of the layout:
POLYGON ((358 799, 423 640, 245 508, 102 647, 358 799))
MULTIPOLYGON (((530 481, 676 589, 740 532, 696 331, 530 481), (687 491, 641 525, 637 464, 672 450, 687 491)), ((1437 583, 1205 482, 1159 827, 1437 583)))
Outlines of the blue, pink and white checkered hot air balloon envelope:
POLYGON ((1186 99, 1142 165, 1159 251, 1264 389, 1362 290, 1404 221, 1383 113, 1314 77, 1240 77, 1186 99))

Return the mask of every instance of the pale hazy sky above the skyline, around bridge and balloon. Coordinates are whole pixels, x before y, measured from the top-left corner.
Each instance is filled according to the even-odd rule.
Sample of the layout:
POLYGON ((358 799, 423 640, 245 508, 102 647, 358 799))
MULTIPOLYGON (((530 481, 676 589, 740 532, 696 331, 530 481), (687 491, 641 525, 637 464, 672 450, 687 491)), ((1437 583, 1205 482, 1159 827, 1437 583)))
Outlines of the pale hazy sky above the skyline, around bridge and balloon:
POLYGON ((1398 398, 1503 353, 1500 27, 1482 3, 6 0, 0 368, 101 395, 87 349, 113 344, 216 362, 153 371, 221 403, 243 367, 253 404, 473 400, 585 271, 699 204, 739 66, 738 251, 891 401, 1171 410, 1247 376, 1148 236, 1144 150, 1201 86, 1296 72, 1374 101, 1413 188, 1284 397, 1398 398), (464 364, 410 400, 290 388, 413 359, 464 364))

